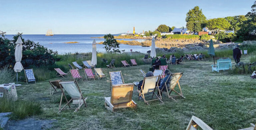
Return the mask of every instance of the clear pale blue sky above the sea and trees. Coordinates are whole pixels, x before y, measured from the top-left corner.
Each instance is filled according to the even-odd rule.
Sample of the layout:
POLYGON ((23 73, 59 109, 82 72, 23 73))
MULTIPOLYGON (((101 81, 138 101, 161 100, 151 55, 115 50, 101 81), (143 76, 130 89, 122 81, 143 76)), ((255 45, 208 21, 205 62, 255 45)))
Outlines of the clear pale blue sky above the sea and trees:
POLYGON ((207 19, 245 15, 254 0, 0 0, 0 30, 7 34, 106 34, 186 26, 199 6, 207 19))

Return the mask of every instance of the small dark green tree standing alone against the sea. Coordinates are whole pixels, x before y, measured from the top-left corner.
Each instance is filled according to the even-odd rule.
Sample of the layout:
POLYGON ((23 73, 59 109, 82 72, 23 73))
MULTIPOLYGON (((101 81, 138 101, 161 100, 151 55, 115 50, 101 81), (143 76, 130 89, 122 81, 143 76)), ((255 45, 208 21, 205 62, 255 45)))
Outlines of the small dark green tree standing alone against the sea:
POLYGON ((104 39, 105 41, 103 42, 103 45, 105 45, 103 48, 107 51, 107 53, 109 52, 118 52, 120 53, 121 51, 117 48, 119 48, 120 43, 118 43, 116 41, 116 39, 114 38, 114 35, 106 34, 104 35, 104 39))

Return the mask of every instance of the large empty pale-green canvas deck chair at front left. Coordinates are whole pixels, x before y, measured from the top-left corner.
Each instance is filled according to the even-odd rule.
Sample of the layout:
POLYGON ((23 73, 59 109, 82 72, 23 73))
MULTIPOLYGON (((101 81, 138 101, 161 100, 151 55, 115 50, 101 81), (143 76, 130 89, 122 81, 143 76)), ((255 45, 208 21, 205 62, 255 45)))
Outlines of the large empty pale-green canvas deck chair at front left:
POLYGON ((59 82, 60 84, 60 89, 62 92, 61 98, 60 98, 60 105, 59 105, 59 112, 61 112, 62 110, 67 110, 67 109, 75 109, 74 112, 78 111, 80 109, 80 107, 84 104, 85 107, 87 107, 86 105, 86 100, 88 97, 83 97, 83 94, 77 84, 77 81, 64 81, 64 82, 59 82), (68 95, 71 97, 71 99, 68 101, 64 90, 68 93, 68 95), (63 97, 66 100, 66 104, 61 108, 61 103, 62 103, 62 99, 63 97), (72 104, 78 104, 78 107, 76 108, 72 108, 70 103, 72 101, 72 104), (66 108, 66 106, 69 106, 69 108, 66 108))

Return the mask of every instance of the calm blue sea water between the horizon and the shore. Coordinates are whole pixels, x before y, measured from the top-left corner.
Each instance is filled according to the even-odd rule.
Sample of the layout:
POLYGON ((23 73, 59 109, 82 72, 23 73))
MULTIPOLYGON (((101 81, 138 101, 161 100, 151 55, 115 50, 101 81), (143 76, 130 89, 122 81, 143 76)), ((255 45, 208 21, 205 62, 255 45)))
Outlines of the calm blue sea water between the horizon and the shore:
MULTIPOLYGON (((39 44, 47 47, 48 49, 52 49, 54 51, 58 51, 59 54, 64 53, 75 53, 75 52, 92 52, 92 41, 93 39, 96 42, 104 41, 104 38, 91 38, 91 37, 100 37, 104 36, 104 34, 55 34, 53 36, 45 36, 44 34, 40 35, 22 35, 22 38, 25 40, 30 39, 35 42, 39 42, 39 44), (63 42, 77 41, 79 43, 67 44, 63 42)), ((6 35, 7 38, 12 39, 13 35, 6 35)), ((144 39, 118 39, 118 40, 137 40, 143 41, 144 39)), ((98 52, 106 52, 103 49, 104 45, 97 44, 98 52)), ((120 50, 125 50, 125 52, 129 52, 130 49, 133 51, 140 51, 142 53, 146 53, 151 47, 142 47, 138 45, 126 45, 120 44, 120 50)))

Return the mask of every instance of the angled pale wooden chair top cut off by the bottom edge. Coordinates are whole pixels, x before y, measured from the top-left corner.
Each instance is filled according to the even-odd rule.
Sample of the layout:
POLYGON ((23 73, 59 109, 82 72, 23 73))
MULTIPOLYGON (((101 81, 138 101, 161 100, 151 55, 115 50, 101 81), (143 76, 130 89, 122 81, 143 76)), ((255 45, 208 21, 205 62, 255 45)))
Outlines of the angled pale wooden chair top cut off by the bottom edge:
POLYGON ((213 130, 211 127, 205 124, 201 119, 195 116, 192 116, 186 130, 197 130, 198 127, 200 127, 202 130, 213 130))

